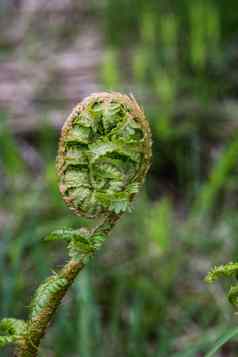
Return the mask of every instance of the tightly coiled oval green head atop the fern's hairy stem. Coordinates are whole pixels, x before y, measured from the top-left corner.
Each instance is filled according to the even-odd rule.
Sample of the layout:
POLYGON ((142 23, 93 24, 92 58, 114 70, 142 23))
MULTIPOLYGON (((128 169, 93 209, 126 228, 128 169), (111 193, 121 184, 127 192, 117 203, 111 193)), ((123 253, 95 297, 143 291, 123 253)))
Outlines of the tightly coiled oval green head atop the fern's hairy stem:
POLYGON ((126 211, 151 160, 151 134, 135 99, 96 93, 62 130, 57 159, 66 204, 87 218, 126 211))

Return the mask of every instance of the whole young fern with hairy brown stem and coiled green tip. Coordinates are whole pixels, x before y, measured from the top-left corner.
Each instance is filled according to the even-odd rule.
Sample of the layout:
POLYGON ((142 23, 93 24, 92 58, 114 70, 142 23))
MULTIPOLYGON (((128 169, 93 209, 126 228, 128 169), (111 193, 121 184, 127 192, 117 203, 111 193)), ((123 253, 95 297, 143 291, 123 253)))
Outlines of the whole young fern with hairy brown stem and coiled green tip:
POLYGON ((14 343, 18 357, 38 355, 57 307, 121 215, 130 210, 150 163, 149 124, 133 97, 96 93, 74 108, 59 143, 59 189, 74 213, 98 222, 90 229, 61 229, 47 237, 66 241, 69 260, 38 287, 27 321, 0 322, 0 346, 14 343))

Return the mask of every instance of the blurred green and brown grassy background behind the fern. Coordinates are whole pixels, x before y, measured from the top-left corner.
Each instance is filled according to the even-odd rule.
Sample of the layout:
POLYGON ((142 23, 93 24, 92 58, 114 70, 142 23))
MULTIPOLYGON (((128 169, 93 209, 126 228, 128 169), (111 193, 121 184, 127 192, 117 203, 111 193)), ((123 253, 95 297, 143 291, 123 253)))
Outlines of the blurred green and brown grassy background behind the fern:
MULTIPOLYGON (((133 93, 153 165, 60 307, 44 357, 195 357, 235 328, 214 264, 238 253, 235 0, 0 0, 0 316, 24 318, 79 227, 57 188, 60 128, 98 90, 133 93)), ((233 339, 216 356, 237 356, 233 339)), ((1 351, 10 356, 12 350, 1 351)))

